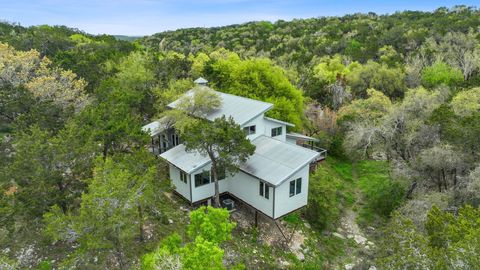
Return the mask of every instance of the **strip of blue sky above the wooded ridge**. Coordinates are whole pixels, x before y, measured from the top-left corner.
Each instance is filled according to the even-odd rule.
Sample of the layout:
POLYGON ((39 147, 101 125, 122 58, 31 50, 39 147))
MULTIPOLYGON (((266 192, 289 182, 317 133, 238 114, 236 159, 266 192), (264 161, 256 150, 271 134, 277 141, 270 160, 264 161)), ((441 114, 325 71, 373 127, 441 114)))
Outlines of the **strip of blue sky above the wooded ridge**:
POLYGON ((0 0, 0 20, 67 25, 92 34, 148 35, 248 21, 427 10, 479 1, 431 0, 0 0))

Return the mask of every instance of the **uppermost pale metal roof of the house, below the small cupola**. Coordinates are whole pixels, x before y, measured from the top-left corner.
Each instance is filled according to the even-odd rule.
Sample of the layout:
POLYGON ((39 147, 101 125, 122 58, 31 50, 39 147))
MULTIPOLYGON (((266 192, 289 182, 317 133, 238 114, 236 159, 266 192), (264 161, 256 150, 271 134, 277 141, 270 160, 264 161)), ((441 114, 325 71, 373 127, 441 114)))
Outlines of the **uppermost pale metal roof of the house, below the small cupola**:
MULTIPOLYGON (((211 88, 208 89, 212 90, 211 88)), ((243 125, 273 107, 273 104, 271 103, 245 97, 239 97, 227 93, 218 92, 215 90, 212 91, 220 95, 220 98, 222 99, 222 105, 220 106, 220 108, 205 117, 207 120, 210 121, 213 121, 216 118, 225 115, 226 117, 233 117, 233 120, 235 120, 237 124, 243 125)), ((194 89, 190 89, 187 93, 185 93, 185 95, 193 95, 193 92, 194 89)), ((168 104, 167 106, 170 108, 175 108, 177 103, 178 100, 168 104)))

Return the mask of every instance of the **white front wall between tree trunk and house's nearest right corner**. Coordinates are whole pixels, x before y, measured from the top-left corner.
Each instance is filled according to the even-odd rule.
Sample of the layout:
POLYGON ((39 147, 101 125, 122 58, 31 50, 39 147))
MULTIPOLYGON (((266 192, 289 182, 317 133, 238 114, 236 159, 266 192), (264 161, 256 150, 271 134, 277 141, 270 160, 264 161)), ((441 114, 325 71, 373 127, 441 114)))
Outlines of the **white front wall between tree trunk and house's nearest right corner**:
POLYGON ((257 208, 269 217, 273 217, 273 188, 269 187, 269 199, 260 196, 260 181, 242 171, 230 181, 230 193, 242 201, 257 208))

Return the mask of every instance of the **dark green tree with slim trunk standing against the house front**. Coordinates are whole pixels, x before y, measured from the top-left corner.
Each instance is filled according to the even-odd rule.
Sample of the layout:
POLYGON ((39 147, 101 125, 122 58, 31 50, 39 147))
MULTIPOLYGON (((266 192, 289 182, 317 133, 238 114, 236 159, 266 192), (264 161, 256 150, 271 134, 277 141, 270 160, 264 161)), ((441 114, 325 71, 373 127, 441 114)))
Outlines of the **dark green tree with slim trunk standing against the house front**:
POLYGON ((185 128, 183 140, 187 151, 198 151, 211 161, 211 175, 215 181, 215 205, 220 207, 218 175, 221 170, 234 174, 247 161, 255 146, 232 117, 222 116, 213 122, 198 121, 185 128))

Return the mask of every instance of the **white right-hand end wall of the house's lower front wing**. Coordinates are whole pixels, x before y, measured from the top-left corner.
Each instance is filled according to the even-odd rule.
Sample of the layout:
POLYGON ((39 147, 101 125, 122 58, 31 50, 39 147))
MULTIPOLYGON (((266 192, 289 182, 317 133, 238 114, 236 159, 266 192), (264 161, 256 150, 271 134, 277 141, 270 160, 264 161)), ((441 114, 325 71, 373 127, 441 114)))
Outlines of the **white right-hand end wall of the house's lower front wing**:
POLYGON ((281 217, 295 209, 307 205, 309 164, 292 175, 287 181, 275 188, 275 216, 281 217), (290 181, 302 178, 302 191, 290 197, 290 181))

